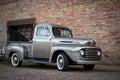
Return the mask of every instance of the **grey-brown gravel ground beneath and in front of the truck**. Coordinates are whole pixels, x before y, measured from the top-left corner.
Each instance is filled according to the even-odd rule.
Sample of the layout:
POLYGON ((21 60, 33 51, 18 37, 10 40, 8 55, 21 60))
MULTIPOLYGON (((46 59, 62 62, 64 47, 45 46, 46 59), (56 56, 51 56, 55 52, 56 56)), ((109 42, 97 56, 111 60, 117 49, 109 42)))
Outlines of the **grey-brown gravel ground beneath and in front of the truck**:
POLYGON ((120 66, 96 65, 86 71, 82 66, 70 66, 58 71, 55 65, 22 65, 15 68, 0 64, 0 80, 120 80, 120 66))

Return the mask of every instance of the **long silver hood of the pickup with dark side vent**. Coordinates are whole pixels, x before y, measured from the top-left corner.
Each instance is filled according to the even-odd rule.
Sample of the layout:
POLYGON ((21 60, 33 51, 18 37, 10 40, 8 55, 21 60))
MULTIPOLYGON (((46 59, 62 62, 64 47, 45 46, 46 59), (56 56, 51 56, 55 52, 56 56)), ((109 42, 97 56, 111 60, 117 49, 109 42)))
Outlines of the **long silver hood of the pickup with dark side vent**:
POLYGON ((95 41, 92 39, 83 39, 83 38, 54 38, 52 39, 53 45, 60 44, 71 44, 71 45, 80 45, 80 46, 95 46, 95 41))

